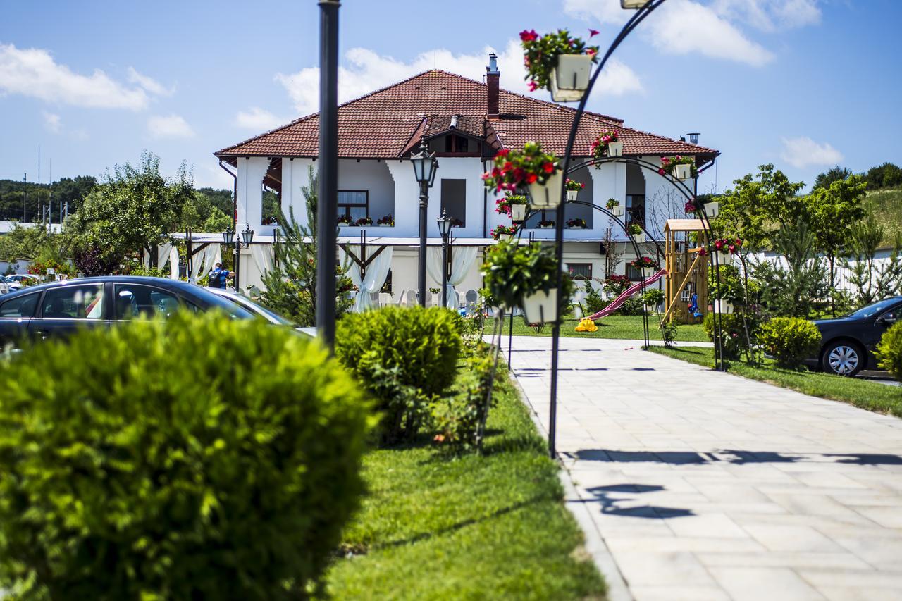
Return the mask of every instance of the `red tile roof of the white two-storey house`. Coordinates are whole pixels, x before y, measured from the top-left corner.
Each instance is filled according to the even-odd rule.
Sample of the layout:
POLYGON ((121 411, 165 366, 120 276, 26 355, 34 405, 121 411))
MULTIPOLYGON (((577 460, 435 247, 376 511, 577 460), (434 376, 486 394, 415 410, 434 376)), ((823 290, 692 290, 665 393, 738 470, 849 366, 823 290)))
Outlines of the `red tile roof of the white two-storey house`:
MULTIPOLYGON (((486 118, 485 84, 442 70, 431 70, 388 88, 346 102, 338 108, 338 155, 356 159, 391 159, 419 143, 419 136, 448 129, 457 116, 458 129, 469 135, 497 136, 502 147, 521 148, 529 140, 563 154, 575 109, 536 98, 499 91, 501 115, 486 118)), ((296 156, 318 154, 318 114, 222 149, 216 156, 296 156)), ((617 130, 627 155, 694 154, 713 158, 718 151, 661 135, 624 127, 622 119, 585 113, 576 136, 575 156, 603 130, 617 130)))

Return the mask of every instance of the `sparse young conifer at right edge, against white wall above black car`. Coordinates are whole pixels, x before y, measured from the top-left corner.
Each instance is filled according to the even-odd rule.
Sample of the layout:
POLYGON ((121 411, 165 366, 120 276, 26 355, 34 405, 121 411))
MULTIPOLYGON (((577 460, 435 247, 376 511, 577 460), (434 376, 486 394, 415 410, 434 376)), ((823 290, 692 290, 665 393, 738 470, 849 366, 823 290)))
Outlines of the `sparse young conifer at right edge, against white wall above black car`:
POLYGON ((851 257, 843 259, 842 266, 850 272, 849 282, 858 289, 856 300, 861 305, 902 291, 902 237, 896 236, 888 260, 881 264, 877 251, 884 233, 884 227, 870 211, 852 227, 851 257))

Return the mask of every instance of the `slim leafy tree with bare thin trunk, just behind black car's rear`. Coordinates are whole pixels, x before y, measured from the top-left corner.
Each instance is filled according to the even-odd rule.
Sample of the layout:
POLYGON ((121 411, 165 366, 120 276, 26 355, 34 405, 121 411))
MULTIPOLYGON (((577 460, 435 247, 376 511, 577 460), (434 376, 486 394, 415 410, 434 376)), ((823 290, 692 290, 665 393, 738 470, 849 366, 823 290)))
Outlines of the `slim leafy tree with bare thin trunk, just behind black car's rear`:
MULTIPOLYGON (((833 170, 831 170, 833 171, 833 170)), ((828 171, 829 172, 829 171, 828 171)), ((859 175, 833 180, 829 186, 815 188, 806 200, 807 217, 818 250, 830 265, 831 308, 836 315, 833 289, 836 283, 836 257, 846 254, 851 243, 852 227, 864 217, 861 204, 868 184, 859 175)))

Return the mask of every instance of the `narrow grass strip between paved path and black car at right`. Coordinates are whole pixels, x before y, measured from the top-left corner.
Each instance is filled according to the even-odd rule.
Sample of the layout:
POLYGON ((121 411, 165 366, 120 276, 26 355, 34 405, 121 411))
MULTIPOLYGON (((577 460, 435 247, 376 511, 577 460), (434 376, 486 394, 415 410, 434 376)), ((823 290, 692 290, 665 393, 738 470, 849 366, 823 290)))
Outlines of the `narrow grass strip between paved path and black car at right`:
MULTIPOLYGON (((651 347, 649 350, 660 355, 672 356, 695 365, 714 365, 713 348, 700 347, 651 347)), ((780 369, 772 363, 747 365, 739 361, 727 362, 731 374, 741 375, 751 380, 776 384, 800 393, 819 396, 823 399, 848 402, 861 409, 888 413, 902 417, 902 387, 869 382, 861 378, 843 378, 839 375, 819 372, 794 372, 780 369)))

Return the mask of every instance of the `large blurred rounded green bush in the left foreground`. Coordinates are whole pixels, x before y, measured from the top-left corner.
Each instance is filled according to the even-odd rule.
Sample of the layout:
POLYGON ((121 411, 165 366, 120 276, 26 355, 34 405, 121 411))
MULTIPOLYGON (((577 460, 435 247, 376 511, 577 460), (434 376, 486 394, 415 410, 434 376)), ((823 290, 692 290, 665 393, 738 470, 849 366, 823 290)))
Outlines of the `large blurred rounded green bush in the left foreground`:
POLYGON ((0 381, 0 586, 17 597, 299 598, 363 490, 369 403, 287 328, 87 330, 0 381))

